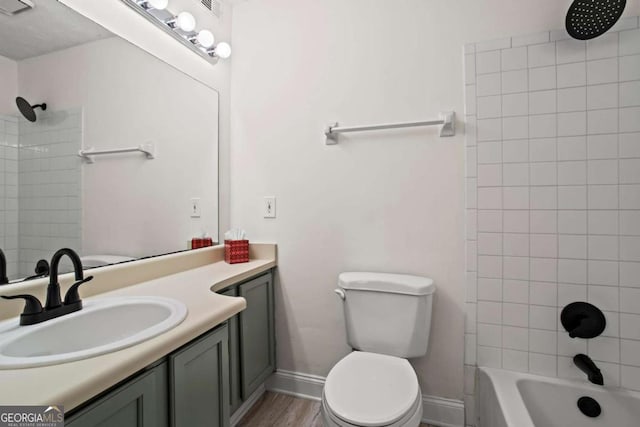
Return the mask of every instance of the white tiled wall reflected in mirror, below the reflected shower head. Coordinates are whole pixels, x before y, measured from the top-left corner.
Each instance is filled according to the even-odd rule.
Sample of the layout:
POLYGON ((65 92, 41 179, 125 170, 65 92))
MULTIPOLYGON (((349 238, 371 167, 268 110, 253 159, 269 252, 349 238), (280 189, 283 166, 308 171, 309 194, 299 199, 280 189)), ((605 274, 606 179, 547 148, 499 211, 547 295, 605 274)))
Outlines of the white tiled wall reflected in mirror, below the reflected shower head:
POLYGON ((34 274, 39 259, 63 247, 81 251, 82 114, 80 110, 38 113, 20 119, 19 275, 34 274))

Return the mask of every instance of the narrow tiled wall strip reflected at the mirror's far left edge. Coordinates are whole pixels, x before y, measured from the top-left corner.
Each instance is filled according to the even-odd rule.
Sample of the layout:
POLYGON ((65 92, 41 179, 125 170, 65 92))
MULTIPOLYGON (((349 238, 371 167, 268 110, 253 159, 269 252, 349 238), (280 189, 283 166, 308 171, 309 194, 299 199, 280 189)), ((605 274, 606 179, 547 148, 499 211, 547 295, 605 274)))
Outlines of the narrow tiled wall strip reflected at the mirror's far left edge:
POLYGON ((0 248, 9 279, 18 277, 18 120, 0 116, 0 248))

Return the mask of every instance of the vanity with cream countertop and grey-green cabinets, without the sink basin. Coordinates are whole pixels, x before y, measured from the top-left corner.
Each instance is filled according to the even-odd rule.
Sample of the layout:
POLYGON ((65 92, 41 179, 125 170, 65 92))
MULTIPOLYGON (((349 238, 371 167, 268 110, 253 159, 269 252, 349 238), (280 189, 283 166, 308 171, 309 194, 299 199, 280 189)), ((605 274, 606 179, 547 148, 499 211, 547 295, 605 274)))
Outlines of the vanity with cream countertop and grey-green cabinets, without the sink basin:
MULTIPOLYGON (((276 247, 252 245, 251 261, 243 264, 223 257, 217 246, 87 271, 95 276, 83 289, 83 299, 93 295, 87 303, 164 297, 182 302, 188 313, 173 329, 122 350, 0 370, 0 402, 64 405, 65 423, 73 427, 229 426, 232 413, 275 369, 276 247)), ((73 277, 61 279, 64 289, 73 277)), ((21 290, 37 294, 40 282, 21 290)), ((19 312, 19 302, 6 302, 19 312)))

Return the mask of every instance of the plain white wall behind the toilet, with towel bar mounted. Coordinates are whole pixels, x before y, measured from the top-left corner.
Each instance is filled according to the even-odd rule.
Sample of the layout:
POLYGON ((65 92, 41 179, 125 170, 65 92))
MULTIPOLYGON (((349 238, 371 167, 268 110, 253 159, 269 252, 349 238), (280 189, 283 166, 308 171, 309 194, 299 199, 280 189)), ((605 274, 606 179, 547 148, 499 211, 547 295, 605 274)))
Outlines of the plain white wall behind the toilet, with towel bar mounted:
MULTIPOLYGON (((234 8, 231 216, 278 242, 278 367, 326 375, 348 352, 331 290, 345 270, 438 285, 422 391, 463 397, 462 132, 379 132, 324 145, 323 128, 463 113, 465 42, 560 28, 557 0, 271 0, 234 8), (278 197, 278 218, 261 215, 278 197)), ((629 4, 628 14, 640 5, 629 4)))

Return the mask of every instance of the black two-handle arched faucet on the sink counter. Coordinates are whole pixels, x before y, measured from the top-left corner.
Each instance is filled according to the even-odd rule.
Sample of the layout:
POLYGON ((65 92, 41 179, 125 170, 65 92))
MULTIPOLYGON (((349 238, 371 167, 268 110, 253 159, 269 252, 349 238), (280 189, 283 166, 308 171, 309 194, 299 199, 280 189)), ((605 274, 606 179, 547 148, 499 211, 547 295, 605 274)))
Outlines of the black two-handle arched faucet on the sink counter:
POLYGON ((34 325, 82 309, 82 300, 78 294, 78 288, 83 283, 87 283, 93 279, 93 276, 89 276, 86 279, 84 278, 82 262, 78 254, 68 248, 60 249, 53 254, 50 268, 51 274, 49 275, 47 300, 44 308, 42 308, 40 300, 33 295, 2 296, 4 299, 22 298, 26 301, 24 310, 20 315, 21 325, 34 325), (58 283, 58 264, 60 264, 60 259, 65 255, 68 256, 73 263, 76 283, 69 288, 63 302, 60 298, 60 284, 58 283))

